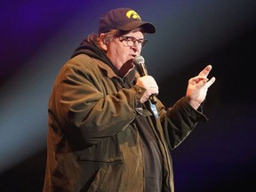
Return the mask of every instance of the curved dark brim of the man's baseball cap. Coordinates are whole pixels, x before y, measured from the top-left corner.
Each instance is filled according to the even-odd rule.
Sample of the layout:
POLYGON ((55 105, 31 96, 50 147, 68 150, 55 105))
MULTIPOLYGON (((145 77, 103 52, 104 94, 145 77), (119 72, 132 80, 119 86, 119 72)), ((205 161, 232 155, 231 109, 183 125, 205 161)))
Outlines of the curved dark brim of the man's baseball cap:
POLYGON ((143 21, 139 21, 139 20, 127 23, 123 26, 118 27, 117 29, 124 30, 124 31, 130 31, 135 28, 142 28, 143 32, 148 33, 148 34, 156 33, 156 28, 152 23, 143 22, 143 21))

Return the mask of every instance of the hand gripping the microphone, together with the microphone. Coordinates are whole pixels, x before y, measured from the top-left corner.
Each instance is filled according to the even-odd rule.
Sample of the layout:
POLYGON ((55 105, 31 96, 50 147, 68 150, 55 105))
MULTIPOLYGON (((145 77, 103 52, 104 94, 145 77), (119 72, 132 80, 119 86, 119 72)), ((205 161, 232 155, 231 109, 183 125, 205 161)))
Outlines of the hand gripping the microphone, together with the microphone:
POLYGON ((144 103, 148 100, 151 100, 153 104, 156 104, 156 95, 158 94, 158 85, 156 84, 155 79, 152 76, 148 76, 148 71, 144 64, 144 58, 142 56, 137 56, 133 60, 137 70, 140 74, 140 78, 137 79, 137 85, 146 89, 143 96, 140 99, 141 103, 144 103))

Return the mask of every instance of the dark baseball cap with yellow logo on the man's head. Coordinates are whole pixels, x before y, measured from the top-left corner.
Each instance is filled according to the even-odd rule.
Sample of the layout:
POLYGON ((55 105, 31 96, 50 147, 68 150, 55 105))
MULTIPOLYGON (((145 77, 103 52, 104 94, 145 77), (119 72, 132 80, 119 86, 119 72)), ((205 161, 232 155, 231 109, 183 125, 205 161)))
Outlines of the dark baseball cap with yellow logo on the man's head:
POLYGON ((156 33, 155 26, 150 22, 142 21, 140 15, 130 8, 116 8, 100 18, 99 33, 107 33, 111 29, 130 31, 142 28, 144 33, 156 33))

